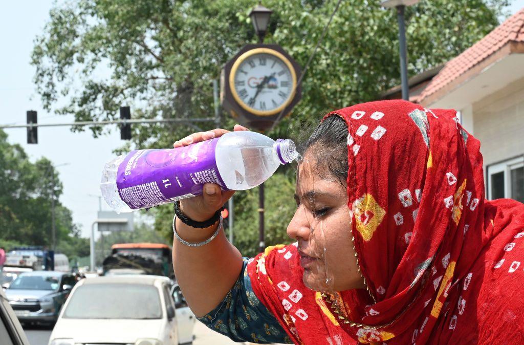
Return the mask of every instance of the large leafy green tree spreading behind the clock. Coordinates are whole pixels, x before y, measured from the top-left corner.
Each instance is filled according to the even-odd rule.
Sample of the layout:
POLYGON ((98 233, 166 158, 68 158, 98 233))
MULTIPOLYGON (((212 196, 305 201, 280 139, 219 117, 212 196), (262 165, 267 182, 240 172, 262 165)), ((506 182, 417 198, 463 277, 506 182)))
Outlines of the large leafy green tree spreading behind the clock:
MULTIPOLYGON (((304 66, 336 3, 265 1, 274 10, 265 41, 281 45, 304 66)), ((425 0, 407 8, 410 75, 446 62, 485 36, 498 25, 508 3, 425 0)), ((224 63, 242 46, 257 41, 248 17, 254 4, 252 0, 65 2, 51 10, 49 22, 35 40, 32 64, 38 93, 47 110, 74 114, 78 121, 115 118, 121 105, 132 105, 135 117, 209 116, 213 114, 211 80, 219 78, 224 63), (68 102, 58 106, 62 98, 68 102)), ((302 131, 301 122, 313 114, 376 99, 398 84, 396 20, 395 11, 381 8, 379 0, 343 1, 303 79, 301 102, 269 135, 302 131)), ((226 127, 233 122, 226 118, 226 127)), ((194 131, 180 124, 133 128, 133 144, 140 148, 169 147, 194 131)), ((94 127, 92 131, 97 136, 106 130, 94 127)), ((244 219, 245 227, 256 224, 255 193, 237 193, 239 225, 244 219)), ((268 196, 271 193, 268 187, 268 196)), ((288 202, 283 193, 275 194, 270 202, 288 202)), ((170 207, 150 213, 156 217, 155 228, 169 238, 170 207)), ((268 208, 271 229, 269 213, 268 208)), ((292 213, 277 214, 279 220, 288 220, 292 213)), ((246 232, 243 243, 256 242, 253 229, 238 231, 239 239, 246 232)))

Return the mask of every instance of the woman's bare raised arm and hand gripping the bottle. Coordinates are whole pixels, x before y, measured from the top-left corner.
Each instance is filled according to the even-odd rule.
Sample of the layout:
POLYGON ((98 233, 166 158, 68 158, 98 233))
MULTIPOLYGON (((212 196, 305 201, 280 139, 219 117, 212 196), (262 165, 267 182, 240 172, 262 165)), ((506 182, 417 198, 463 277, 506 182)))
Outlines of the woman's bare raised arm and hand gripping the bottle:
MULTIPOLYGON (((247 128, 235 125, 235 131, 247 128)), ((219 137, 228 131, 216 129, 194 133, 173 144, 187 146, 200 141, 219 137)), ((180 211, 194 221, 205 221, 213 217, 234 191, 221 191, 215 184, 205 184, 203 194, 180 201, 180 211)), ((219 227, 219 222, 206 229, 192 228, 176 219, 176 230, 180 238, 190 243, 209 239, 219 227)), ((180 289, 196 317, 213 310, 224 299, 242 271, 242 255, 227 241, 223 229, 208 244, 191 247, 177 238, 173 241, 173 268, 180 289)))

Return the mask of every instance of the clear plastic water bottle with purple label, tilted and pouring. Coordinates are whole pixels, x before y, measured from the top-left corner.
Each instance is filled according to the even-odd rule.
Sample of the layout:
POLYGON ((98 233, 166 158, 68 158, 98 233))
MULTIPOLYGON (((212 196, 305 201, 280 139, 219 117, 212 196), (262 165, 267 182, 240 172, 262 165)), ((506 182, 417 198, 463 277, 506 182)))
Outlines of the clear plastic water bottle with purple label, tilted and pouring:
POLYGON ((131 212, 201 195, 205 183, 222 190, 256 187, 296 156, 289 139, 230 132, 188 146, 119 156, 106 163, 100 188, 113 210, 131 212))

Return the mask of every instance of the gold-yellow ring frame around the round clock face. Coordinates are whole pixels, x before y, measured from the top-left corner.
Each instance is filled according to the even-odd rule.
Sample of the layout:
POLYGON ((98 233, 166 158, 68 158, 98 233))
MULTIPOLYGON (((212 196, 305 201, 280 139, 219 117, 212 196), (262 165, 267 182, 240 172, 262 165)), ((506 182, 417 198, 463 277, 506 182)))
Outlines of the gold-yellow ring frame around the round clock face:
POLYGON ((248 111, 248 112, 250 112, 252 114, 255 114, 255 115, 271 116, 271 115, 275 115, 275 114, 281 112, 283 109, 286 109, 286 107, 289 105, 289 103, 291 103, 291 101, 293 100, 294 94, 297 91, 297 74, 295 73, 295 70, 294 70, 293 65, 291 64, 291 62, 285 56, 283 56, 280 52, 278 52, 276 50, 273 50, 273 49, 269 49, 269 48, 255 48, 255 49, 251 49, 251 50, 248 50, 245 53, 243 53, 233 63, 233 66, 231 67, 231 73, 230 73, 230 76, 229 76, 229 84, 230 84, 231 94, 233 95, 234 100, 236 101, 236 103, 239 106, 243 107, 243 109, 245 109, 246 111, 248 111), (275 56, 276 58, 278 58, 282 62, 284 62, 286 64, 286 66, 288 67, 290 73, 291 73, 291 79, 292 79, 291 93, 290 93, 288 99, 286 100, 286 102, 282 103, 282 105, 280 105, 277 109, 268 110, 268 111, 260 111, 260 110, 253 109, 252 107, 248 106, 238 96, 238 94, 236 92, 236 89, 235 89, 235 76, 236 76, 236 71, 237 71, 238 67, 242 64, 242 62, 244 62, 244 60, 246 60, 250 56, 257 55, 257 54, 263 54, 263 53, 275 56))

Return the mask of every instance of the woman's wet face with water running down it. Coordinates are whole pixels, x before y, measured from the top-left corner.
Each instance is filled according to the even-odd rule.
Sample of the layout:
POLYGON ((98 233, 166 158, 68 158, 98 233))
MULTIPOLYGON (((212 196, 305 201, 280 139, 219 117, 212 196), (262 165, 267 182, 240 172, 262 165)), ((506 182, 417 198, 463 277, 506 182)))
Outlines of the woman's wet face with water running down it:
POLYGON ((315 291, 363 288, 351 240, 346 187, 335 177, 326 178, 331 176, 329 170, 318 167, 308 152, 299 164, 298 208, 287 229, 298 241, 303 282, 315 291))

